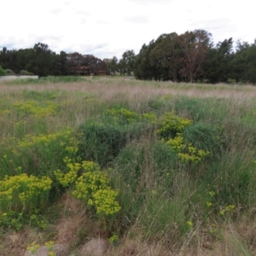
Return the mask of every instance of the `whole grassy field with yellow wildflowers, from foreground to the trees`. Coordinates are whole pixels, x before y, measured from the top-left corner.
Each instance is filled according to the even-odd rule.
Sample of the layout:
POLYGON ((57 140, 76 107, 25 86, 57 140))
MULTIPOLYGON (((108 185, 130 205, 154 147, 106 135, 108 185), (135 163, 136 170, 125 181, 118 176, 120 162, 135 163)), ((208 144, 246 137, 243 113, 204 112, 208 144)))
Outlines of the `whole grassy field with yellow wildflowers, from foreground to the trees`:
POLYGON ((122 77, 0 83, 0 254, 256 254, 256 88, 122 77))

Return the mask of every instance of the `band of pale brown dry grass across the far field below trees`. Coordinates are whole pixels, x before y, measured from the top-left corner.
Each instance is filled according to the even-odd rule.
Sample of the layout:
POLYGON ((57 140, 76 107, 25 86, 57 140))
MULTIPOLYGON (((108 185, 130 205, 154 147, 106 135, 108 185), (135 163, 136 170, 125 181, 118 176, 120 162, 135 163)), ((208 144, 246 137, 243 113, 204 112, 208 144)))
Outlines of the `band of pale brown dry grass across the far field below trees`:
POLYGON ((122 95, 135 99, 155 95, 185 95, 193 97, 222 97, 248 99, 256 97, 253 85, 227 84, 172 84, 165 82, 135 81, 125 79, 100 78, 93 81, 84 79, 83 82, 59 84, 27 84, 6 85, 0 82, 0 92, 14 90, 67 90, 90 92, 111 99, 114 95, 122 95))

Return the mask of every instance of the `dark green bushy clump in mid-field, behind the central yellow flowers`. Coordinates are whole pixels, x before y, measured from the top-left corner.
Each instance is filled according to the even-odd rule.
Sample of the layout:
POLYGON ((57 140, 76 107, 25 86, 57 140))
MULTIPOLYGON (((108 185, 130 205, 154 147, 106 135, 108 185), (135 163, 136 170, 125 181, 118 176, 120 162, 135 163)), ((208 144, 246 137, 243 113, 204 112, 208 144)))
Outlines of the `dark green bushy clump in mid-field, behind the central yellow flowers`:
POLYGON ((150 121, 132 122, 127 125, 114 124, 112 119, 102 121, 89 121, 81 125, 79 155, 84 160, 95 161, 104 167, 108 166, 127 143, 151 133, 154 129, 150 121))

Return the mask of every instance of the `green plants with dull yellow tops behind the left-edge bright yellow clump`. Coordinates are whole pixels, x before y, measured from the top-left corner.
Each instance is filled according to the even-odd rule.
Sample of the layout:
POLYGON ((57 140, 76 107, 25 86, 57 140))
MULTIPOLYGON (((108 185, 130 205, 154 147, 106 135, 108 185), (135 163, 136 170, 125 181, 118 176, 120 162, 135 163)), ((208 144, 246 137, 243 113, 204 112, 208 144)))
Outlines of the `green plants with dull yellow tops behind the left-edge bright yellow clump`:
POLYGON ((5 150, 0 152, 0 178, 20 174, 17 166, 22 166, 28 174, 34 174, 36 169, 37 176, 53 178, 52 170, 63 165, 64 157, 73 157, 78 150, 78 140, 69 127, 49 134, 26 134, 2 145, 5 150))

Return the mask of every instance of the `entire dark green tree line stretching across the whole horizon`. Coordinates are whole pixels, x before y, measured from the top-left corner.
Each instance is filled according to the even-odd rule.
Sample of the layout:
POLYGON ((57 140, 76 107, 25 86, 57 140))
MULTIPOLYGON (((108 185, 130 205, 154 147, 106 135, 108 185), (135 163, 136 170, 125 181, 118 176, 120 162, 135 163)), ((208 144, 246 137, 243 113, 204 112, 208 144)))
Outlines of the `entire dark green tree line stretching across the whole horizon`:
POLYGON ((56 54, 47 44, 38 43, 32 49, 3 48, 0 66, 39 76, 67 75, 74 67, 89 67, 92 73, 106 70, 108 74, 133 74, 143 80, 256 84, 256 40, 248 44, 228 38, 213 44, 212 34, 205 30, 180 35, 172 32, 143 44, 137 55, 129 49, 120 59, 113 56, 103 60, 78 52, 56 54))

